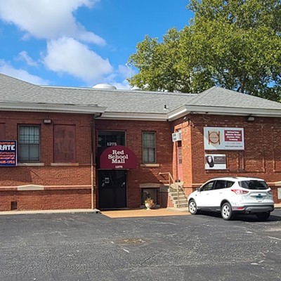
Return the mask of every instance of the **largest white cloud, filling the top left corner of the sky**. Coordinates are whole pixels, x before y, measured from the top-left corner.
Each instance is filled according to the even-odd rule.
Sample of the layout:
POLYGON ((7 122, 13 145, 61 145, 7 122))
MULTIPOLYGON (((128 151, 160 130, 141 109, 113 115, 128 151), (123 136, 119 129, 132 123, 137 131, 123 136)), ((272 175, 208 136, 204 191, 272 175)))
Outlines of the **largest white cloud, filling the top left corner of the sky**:
POLYGON ((8 0, 0 1, 0 18, 40 39, 73 37, 105 45, 105 40, 77 22, 73 12, 80 6, 91 8, 99 0, 8 0))

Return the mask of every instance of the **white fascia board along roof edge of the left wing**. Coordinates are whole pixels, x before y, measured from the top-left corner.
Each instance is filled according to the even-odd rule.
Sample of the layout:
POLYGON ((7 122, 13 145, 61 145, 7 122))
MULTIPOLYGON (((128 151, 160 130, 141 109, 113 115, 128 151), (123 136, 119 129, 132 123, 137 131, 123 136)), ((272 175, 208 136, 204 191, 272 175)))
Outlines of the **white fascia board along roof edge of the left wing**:
POLYGON ((29 112, 63 112, 63 113, 103 113, 107 107, 95 105, 58 105, 47 103, 0 103, 0 110, 29 112))

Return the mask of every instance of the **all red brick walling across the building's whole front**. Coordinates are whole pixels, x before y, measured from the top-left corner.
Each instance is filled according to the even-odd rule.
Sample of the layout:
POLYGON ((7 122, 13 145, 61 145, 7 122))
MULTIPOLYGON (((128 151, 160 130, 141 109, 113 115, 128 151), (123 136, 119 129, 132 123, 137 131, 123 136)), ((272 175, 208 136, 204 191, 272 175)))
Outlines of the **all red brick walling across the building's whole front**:
MULTIPOLYGON (((91 207, 91 119, 91 115, 0 112, 1 124, 5 124, 6 128, 6 139, 18 138, 18 124, 41 126, 40 153, 41 162, 44 163, 44 166, 0 167, 0 210, 10 210, 11 201, 18 202, 18 209, 91 207), (43 123, 46 117, 52 119, 52 124, 43 123), (53 124, 75 125, 76 165, 51 165, 53 124), (45 190, 15 190, 18 185, 30 184, 44 185, 45 190)), ((187 194, 204 181, 216 176, 256 176, 265 178, 268 183, 281 179, 281 123, 277 118, 256 117, 251 123, 246 121, 246 117, 216 115, 189 115, 189 119, 179 119, 171 123, 96 119, 96 131, 126 131, 126 146, 138 158, 138 169, 128 171, 129 208, 140 207, 141 184, 159 184, 163 179, 159 176, 160 172, 170 172, 176 178, 176 143, 171 141, 171 133, 175 129, 182 131, 183 181, 187 194), (204 126, 244 128, 244 151, 212 152, 226 154, 227 170, 204 169, 204 126), (142 165, 142 131, 156 132, 157 165, 142 165)), ((96 188, 96 178, 94 185, 96 188)), ((277 191, 276 189, 273 191, 277 200, 277 191)), ((163 206, 170 205, 171 202, 164 192, 159 194, 159 198, 163 206)), ((96 197, 94 204, 96 204, 96 197)))

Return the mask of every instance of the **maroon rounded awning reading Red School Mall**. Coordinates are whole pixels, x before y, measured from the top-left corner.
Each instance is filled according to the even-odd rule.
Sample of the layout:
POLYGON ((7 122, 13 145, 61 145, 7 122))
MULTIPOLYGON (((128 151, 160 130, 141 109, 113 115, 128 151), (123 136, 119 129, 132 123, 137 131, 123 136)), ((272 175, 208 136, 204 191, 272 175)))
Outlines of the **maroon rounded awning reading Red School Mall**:
POLYGON ((136 169, 137 166, 135 153, 123 145, 110 146, 100 155, 100 169, 136 169))

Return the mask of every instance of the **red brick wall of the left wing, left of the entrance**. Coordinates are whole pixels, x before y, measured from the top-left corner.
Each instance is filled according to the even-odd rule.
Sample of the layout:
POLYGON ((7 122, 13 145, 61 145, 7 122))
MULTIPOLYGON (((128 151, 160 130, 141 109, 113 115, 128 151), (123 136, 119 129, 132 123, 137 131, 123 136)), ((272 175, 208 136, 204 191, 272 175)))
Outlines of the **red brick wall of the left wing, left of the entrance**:
POLYGON ((0 112, 6 124, 6 139, 18 139, 18 125, 41 126, 40 158, 44 166, 0 167, 0 210, 74 209, 91 207, 91 116, 40 112, 0 112), (44 124, 45 118, 52 124, 44 124), (76 128, 77 164, 51 166, 53 163, 53 124, 76 128), (76 166, 77 165, 77 166, 76 166), (18 185, 44 185, 45 190, 17 191, 18 185), (84 188, 83 188, 84 186, 84 188), (81 190, 81 187, 83 188, 81 190), (13 191, 6 191, 13 190, 13 191))

